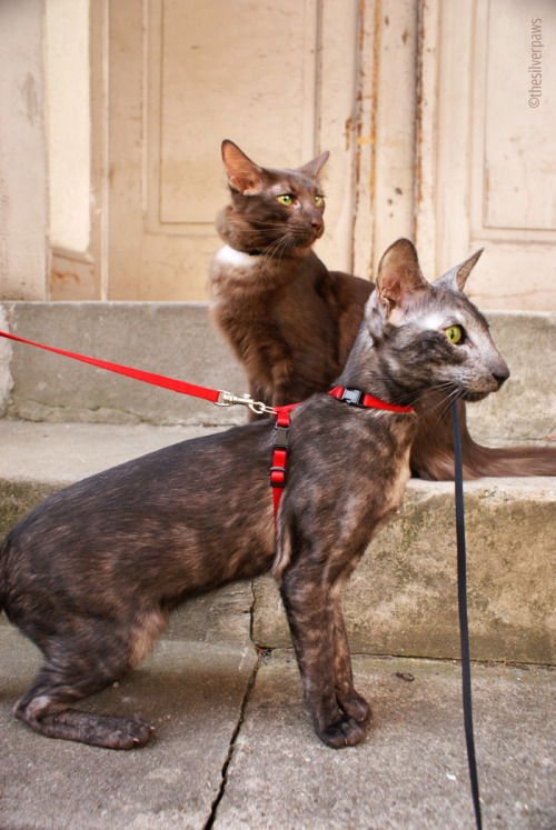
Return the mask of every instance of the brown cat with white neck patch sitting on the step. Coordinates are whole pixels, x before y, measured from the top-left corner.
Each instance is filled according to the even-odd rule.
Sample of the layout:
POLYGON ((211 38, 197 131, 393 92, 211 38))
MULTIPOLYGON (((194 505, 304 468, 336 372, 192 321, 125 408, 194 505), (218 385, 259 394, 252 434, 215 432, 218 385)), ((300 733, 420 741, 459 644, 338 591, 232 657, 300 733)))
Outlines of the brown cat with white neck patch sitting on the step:
MULTIPOLYGON (((244 364, 251 396, 272 406, 330 389, 375 289, 329 271, 311 250, 325 227, 318 176, 328 156, 297 170, 274 170, 231 141, 222 143, 231 204, 217 220, 226 246, 210 268, 211 316, 244 364)), ((441 390, 424 394, 413 474, 453 479, 451 413, 441 390)), ((467 430, 463 403, 459 420, 465 478, 556 476, 556 448, 481 447, 467 430)))

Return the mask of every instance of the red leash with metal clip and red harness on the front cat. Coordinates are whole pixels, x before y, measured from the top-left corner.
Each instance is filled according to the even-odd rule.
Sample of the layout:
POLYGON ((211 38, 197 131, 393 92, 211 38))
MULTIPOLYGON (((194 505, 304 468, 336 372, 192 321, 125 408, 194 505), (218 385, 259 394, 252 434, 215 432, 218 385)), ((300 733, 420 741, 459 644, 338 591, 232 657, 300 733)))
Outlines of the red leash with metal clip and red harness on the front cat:
MULTIPOLYGON (((145 372, 141 369, 131 369, 120 363, 110 363, 107 360, 98 360, 97 358, 88 358, 83 354, 77 354, 72 351, 64 351, 63 349, 54 349, 51 346, 43 346, 42 343, 33 343, 32 340, 24 340, 21 337, 14 334, 8 334, 6 331, 0 331, 0 337, 8 338, 9 340, 16 340, 19 343, 27 343, 28 346, 36 346, 39 349, 46 349, 47 351, 61 354, 66 358, 72 358, 73 360, 80 360, 83 363, 96 366, 100 369, 107 369, 110 372, 117 374, 123 374, 127 378, 133 378, 135 380, 141 380, 145 383, 151 383, 163 389, 170 389, 172 392, 179 392, 180 394, 189 394, 195 398, 202 398, 203 400, 216 403, 217 407, 232 407, 235 404, 242 404, 248 407, 252 412, 257 414, 275 414, 276 416, 276 430, 275 438, 272 441, 272 467, 270 468, 270 484, 274 490, 274 509, 275 509, 275 523, 278 516, 278 506, 280 503, 280 497, 286 486, 286 458, 288 452, 288 439, 289 439, 289 413, 298 403, 289 403, 286 407, 267 407, 261 401, 254 401, 249 394, 242 394, 240 397, 232 394, 231 392, 225 392, 221 389, 207 389, 206 387, 198 387, 195 383, 187 383, 183 380, 176 380, 175 378, 167 378, 163 374, 155 374, 153 372, 145 372)), ((374 398, 371 394, 361 392, 359 389, 346 389, 344 387, 335 387, 329 392, 334 398, 337 398, 345 403, 349 403, 354 407, 373 408, 373 409, 385 409, 390 412, 413 412, 413 407, 398 407, 395 403, 387 403, 378 398, 374 398)))

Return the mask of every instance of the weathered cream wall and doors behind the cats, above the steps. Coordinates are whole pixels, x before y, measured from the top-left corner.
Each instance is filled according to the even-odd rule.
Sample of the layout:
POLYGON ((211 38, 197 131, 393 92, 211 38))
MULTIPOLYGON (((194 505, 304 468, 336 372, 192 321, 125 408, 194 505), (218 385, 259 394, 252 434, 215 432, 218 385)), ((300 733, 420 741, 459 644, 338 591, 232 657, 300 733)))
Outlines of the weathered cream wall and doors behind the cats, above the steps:
POLYGON ((480 308, 556 309, 556 4, 530 8, 0 0, 0 299, 205 299, 228 137, 331 151, 329 268, 373 277, 405 236, 433 279, 485 247, 480 308))

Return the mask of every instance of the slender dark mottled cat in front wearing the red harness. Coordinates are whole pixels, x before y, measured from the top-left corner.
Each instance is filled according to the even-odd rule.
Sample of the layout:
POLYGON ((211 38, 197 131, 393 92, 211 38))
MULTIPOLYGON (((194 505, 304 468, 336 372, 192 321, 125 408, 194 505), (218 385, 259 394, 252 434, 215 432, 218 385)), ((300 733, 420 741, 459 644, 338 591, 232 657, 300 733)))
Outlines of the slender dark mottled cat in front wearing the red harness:
POLYGON ((116 467, 21 520, 0 548, 0 608, 46 662, 16 716, 53 738, 145 743, 151 727, 140 718, 72 704, 132 668, 178 604, 271 571, 317 734, 334 748, 363 740, 370 709, 354 688, 340 589, 401 501, 424 391, 475 400, 508 374, 460 293, 475 261, 430 286, 410 242, 385 253, 340 384, 415 412, 326 393, 297 407, 276 538, 270 420, 116 467))

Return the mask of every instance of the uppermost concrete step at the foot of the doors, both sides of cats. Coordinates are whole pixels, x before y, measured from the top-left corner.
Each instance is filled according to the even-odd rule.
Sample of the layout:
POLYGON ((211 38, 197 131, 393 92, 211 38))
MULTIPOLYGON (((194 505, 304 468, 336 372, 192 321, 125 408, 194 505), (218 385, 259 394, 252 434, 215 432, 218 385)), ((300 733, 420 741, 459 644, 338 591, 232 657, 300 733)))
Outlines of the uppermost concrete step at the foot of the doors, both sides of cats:
MULTIPOLYGON (((471 433, 490 443, 556 434, 556 312, 489 312, 512 377, 468 407, 471 433)), ((247 390, 212 329, 206 303, 3 302, 0 329, 28 340, 216 389, 247 390)), ((0 414, 33 421, 229 424, 245 413, 155 389, 102 369, 0 339, 0 414)))

